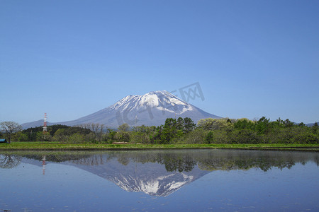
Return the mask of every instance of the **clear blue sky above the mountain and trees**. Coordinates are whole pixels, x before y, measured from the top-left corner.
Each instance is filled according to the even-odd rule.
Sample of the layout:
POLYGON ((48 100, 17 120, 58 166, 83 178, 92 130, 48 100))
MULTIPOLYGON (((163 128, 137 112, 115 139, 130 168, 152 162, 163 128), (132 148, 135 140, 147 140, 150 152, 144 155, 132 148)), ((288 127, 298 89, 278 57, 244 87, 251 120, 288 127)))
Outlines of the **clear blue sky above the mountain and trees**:
POLYGON ((0 122, 198 82, 221 117, 319 121, 319 1, 0 0, 0 122))

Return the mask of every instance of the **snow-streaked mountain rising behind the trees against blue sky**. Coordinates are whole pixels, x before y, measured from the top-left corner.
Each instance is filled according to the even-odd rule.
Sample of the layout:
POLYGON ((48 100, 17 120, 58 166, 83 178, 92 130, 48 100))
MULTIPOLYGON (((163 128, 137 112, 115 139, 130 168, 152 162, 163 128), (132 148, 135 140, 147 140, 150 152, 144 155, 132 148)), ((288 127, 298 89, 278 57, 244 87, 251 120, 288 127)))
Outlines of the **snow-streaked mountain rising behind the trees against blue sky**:
MULTIPOLYGON (((198 122, 199 119, 220 118, 209 114, 194 105, 185 102, 167 91, 155 91, 145 95, 128 95, 119 100, 114 105, 103 110, 89 114, 69 122, 50 123, 65 124, 75 126, 88 123, 105 124, 107 127, 117 128, 119 125, 127 123, 130 126, 158 126, 164 124, 165 119, 172 117, 189 117, 198 122)), ((23 129, 34 126, 30 122, 22 124, 23 129)))

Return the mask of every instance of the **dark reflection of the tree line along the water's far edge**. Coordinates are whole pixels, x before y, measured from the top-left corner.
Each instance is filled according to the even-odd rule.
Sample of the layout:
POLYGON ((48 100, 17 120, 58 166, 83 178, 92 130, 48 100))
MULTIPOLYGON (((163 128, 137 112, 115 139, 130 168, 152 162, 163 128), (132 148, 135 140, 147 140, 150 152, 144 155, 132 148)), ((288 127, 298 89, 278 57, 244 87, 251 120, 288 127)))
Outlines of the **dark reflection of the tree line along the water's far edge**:
POLYGON ((22 158, 55 163, 68 161, 77 165, 98 166, 110 160, 118 160, 122 165, 129 163, 159 163, 168 172, 189 172, 197 165, 201 170, 249 170, 260 168, 267 171, 272 167, 291 168, 296 163, 306 164, 312 160, 319 166, 318 153, 292 153, 270 151, 112 151, 103 153, 3 153, 0 168, 12 168, 21 163, 22 158))

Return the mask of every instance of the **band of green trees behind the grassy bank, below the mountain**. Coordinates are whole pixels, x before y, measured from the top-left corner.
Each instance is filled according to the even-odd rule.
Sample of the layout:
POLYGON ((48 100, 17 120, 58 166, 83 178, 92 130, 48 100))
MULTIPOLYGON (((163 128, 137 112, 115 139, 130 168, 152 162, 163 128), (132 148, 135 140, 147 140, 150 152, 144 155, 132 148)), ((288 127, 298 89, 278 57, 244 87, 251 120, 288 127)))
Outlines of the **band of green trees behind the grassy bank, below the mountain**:
MULTIPOLYGON (((7 136, 0 134, 0 136, 7 136)), ((107 129, 103 124, 42 126, 17 131, 12 141, 58 141, 60 143, 318 143, 318 124, 294 124, 289 119, 168 118, 161 126, 122 124, 107 129)))

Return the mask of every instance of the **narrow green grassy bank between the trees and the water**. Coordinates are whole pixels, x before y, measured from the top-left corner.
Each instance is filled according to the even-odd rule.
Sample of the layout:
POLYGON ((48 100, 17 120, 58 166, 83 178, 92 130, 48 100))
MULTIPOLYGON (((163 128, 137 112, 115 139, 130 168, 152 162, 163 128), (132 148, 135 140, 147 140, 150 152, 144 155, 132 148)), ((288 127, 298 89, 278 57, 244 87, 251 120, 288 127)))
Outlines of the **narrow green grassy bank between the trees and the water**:
POLYGON ((94 151, 94 150, 132 150, 164 148, 233 148, 257 150, 319 151, 318 144, 94 144, 94 143, 57 143, 57 142, 13 142, 1 143, 0 151, 94 151))

